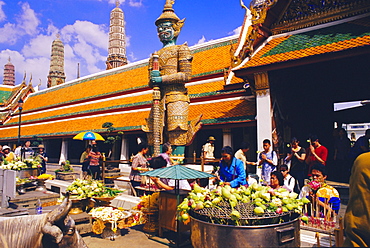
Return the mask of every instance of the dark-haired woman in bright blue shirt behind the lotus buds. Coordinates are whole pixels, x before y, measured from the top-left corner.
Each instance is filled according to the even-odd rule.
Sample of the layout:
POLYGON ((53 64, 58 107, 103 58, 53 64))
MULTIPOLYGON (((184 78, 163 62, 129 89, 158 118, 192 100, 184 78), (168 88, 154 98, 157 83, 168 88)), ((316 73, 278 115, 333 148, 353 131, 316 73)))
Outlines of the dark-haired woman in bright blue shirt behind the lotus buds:
POLYGON ((233 149, 230 146, 225 146, 221 150, 221 157, 218 179, 233 188, 246 185, 244 164, 234 157, 233 149))

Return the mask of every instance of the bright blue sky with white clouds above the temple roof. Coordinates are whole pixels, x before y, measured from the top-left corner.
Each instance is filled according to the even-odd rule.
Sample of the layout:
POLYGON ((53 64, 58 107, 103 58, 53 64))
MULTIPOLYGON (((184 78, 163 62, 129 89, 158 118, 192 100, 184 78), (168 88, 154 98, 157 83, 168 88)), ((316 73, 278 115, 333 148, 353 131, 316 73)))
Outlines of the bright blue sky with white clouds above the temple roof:
MULTIPOLYGON (((165 0, 120 0, 125 14, 127 57, 130 62, 148 58, 161 48, 155 20, 165 0)), ((249 0, 244 3, 248 6, 249 0)), ((60 33, 65 45, 65 73, 68 80, 105 70, 108 53, 109 14, 115 0, 0 0, 0 73, 11 62, 16 84, 24 72, 27 81, 46 87, 51 43, 60 33)), ((245 11, 240 0, 176 0, 179 18, 186 18, 178 44, 189 46, 238 33, 245 11)))

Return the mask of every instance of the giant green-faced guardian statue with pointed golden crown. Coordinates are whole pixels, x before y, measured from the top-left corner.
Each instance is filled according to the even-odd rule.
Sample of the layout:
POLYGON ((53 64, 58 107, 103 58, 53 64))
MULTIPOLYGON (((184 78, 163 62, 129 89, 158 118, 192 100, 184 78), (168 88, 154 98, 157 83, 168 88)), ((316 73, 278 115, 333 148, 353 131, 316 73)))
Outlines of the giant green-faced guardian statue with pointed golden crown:
POLYGON ((184 155, 201 122, 188 121, 189 103, 185 83, 191 79, 192 55, 188 45, 176 45, 184 21, 172 8, 173 0, 166 0, 163 13, 156 20, 158 37, 163 48, 149 60, 149 86, 153 88, 153 105, 142 129, 147 132, 148 143, 158 155, 160 144, 170 142, 177 146, 178 155, 184 155))

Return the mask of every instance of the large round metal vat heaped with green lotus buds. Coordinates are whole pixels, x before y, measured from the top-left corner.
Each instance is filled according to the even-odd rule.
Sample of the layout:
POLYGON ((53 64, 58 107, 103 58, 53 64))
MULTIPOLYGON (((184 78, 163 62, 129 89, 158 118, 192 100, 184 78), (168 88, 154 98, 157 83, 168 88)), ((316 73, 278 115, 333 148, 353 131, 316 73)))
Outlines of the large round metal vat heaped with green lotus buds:
POLYGON ((309 201, 284 188, 253 184, 214 190, 194 185, 178 205, 177 219, 191 225, 194 247, 297 247, 299 216, 309 201), (233 237, 220 240, 219 237, 233 237))

